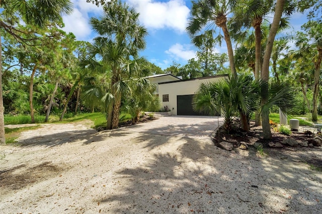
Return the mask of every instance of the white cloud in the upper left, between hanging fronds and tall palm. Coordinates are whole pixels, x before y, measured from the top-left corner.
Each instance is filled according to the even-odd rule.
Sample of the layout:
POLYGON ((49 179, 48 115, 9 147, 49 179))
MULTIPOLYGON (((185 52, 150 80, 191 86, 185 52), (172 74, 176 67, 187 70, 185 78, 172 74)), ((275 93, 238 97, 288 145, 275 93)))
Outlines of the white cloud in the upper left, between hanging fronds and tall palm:
POLYGON ((67 33, 72 32, 77 40, 90 40, 92 29, 89 24, 89 13, 99 17, 103 13, 103 9, 98 8, 96 5, 87 3, 85 0, 74 0, 73 13, 69 16, 64 16, 63 21, 65 27, 64 31, 67 33))

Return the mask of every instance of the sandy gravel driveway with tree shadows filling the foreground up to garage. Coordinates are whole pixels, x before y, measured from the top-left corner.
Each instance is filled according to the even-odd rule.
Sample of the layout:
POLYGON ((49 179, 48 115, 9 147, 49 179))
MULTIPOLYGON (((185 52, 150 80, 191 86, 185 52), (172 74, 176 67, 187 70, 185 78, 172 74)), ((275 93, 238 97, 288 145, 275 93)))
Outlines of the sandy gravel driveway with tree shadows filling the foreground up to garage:
POLYGON ((0 146, 0 213, 322 213, 322 173, 296 153, 223 151, 208 137, 217 119, 198 120, 24 132, 0 146))

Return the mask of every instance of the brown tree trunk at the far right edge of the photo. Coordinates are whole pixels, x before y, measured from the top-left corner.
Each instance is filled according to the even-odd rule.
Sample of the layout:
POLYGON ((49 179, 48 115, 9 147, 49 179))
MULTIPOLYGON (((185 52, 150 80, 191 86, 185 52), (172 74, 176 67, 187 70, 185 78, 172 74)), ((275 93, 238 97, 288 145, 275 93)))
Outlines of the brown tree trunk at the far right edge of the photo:
POLYGON ((313 111, 312 121, 317 121, 317 95, 319 91, 318 82, 320 78, 320 65, 322 61, 322 47, 318 47, 318 55, 314 63, 314 90, 313 90, 313 111))

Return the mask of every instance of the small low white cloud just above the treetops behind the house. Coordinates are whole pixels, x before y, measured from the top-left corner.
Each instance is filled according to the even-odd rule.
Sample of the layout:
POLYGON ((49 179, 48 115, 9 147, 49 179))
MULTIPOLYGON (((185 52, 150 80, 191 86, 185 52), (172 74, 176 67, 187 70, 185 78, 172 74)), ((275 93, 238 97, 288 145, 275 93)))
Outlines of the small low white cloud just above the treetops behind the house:
POLYGON ((196 51, 191 50, 192 45, 181 45, 176 43, 171 46, 169 50, 165 51, 167 54, 171 55, 175 59, 189 60, 196 57, 196 51))

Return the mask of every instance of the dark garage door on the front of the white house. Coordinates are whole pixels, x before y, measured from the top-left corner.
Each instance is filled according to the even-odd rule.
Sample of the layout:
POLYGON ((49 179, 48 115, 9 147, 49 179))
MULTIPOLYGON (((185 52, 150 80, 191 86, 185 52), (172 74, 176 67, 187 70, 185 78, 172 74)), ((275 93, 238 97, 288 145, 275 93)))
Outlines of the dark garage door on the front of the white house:
POLYGON ((191 95, 177 95, 177 115, 194 115, 201 116, 198 112, 194 112, 192 109, 192 97, 191 95))

